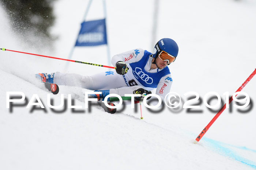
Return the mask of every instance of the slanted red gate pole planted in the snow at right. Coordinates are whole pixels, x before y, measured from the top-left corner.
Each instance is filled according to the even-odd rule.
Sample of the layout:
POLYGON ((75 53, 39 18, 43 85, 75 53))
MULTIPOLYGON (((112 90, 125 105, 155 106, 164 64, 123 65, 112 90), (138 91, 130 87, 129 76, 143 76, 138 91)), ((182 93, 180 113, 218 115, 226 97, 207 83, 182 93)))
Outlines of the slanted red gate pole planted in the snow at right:
MULTIPOLYGON (((245 82, 237 89, 236 92, 241 91, 246 84, 253 78, 253 76, 255 76, 256 74, 256 68, 255 70, 252 72, 252 74, 245 80, 245 82)), ((231 96, 231 98, 229 99, 229 104, 232 102, 233 100, 233 95, 231 96)), ((202 139, 202 137, 204 136, 204 134, 208 131, 208 129, 211 127, 211 125, 215 122, 215 120, 219 117, 219 115, 221 115, 221 113, 225 110, 226 108, 226 103, 224 104, 224 106, 221 108, 221 110, 218 111, 218 113, 214 116, 214 118, 212 118, 212 120, 207 124, 207 126, 202 130, 202 132, 197 136, 197 138, 195 139, 194 143, 196 144, 197 142, 200 141, 200 139, 202 139)))

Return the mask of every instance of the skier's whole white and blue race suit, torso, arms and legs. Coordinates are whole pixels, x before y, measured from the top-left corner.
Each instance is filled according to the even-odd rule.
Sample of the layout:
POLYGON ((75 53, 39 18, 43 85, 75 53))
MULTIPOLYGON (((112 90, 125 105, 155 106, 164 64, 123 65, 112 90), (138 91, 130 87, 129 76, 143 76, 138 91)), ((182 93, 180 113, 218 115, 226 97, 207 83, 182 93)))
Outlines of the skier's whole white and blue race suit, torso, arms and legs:
POLYGON ((118 61, 128 64, 128 72, 119 75, 115 70, 95 75, 79 75, 56 72, 54 83, 58 85, 77 86, 89 90, 110 90, 110 94, 132 94, 133 90, 144 88, 152 91, 163 100, 170 92, 172 78, 168 67, 151 69, 152 54, 141 48, 130 50, 113 56, 111 63, 116 66, 118 61))

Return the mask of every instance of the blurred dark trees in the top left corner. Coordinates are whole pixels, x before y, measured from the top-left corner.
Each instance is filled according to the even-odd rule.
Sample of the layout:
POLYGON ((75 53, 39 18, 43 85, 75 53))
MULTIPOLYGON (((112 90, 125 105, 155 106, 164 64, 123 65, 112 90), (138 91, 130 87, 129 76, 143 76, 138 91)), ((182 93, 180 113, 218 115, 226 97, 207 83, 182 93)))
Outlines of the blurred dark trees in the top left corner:
POLYGON ((53 42, 54 38, 49 32, 49 28, 53 25, 55 19, 52 7, 53 1, 0 0, 14 32, 30 44, 38 41, 43 43, 45 40, 48 43, 53 42))

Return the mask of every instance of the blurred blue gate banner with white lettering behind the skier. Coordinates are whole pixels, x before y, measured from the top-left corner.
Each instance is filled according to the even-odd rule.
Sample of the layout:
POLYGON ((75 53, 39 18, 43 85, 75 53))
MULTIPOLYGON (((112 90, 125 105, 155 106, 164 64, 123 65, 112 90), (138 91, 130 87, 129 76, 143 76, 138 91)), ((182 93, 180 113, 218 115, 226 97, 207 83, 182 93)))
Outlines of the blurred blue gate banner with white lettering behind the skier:
POLYGON ((105 19, 84 21, 75 46, 98 46, 107 44, 105 19))

